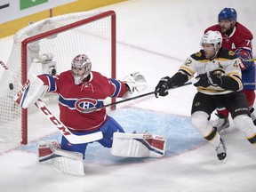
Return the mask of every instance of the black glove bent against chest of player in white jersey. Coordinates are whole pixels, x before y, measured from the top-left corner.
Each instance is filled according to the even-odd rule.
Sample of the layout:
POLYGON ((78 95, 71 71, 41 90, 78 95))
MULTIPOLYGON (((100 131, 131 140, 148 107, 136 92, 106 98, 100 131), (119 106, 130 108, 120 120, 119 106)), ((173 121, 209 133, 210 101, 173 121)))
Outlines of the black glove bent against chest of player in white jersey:
POLYGON ((210 85, 221 85, 221 78, 218 75, 215 75, 213 71, 200 74, 199 76, 196 76, 196 79, 198 81, 196 84, 194 84, 196 87, 197 86, 202 86, 202 87, 208 87, 210 85))

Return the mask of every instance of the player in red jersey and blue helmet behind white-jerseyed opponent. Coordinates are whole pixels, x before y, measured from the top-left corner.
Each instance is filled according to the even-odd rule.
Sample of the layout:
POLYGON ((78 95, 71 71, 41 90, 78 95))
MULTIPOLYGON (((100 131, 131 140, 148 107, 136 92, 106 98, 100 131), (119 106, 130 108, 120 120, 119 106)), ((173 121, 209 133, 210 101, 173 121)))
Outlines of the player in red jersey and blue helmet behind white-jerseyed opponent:
MULTIPOLYGON (((252 59, 252 33, 244 25, 236 21, 237 14, 233 8, 224 8, 219 16, 219 24, 206 28, 204 34, 209 30, 220 31, 223 37, 222 46, 228 50, 236 52, 241 59, 240 68, 242 70, 242 82, 244 85, 243 92, 246 96, 248 106, 250 108, 250 115, 254 124, 256 124, 256 117, 253 113, 255 100, 255 65, 252 59)), ((229 127, 228 110, 223 107, 217 108, 218 123, 215 125, 219 132, 229 127)))

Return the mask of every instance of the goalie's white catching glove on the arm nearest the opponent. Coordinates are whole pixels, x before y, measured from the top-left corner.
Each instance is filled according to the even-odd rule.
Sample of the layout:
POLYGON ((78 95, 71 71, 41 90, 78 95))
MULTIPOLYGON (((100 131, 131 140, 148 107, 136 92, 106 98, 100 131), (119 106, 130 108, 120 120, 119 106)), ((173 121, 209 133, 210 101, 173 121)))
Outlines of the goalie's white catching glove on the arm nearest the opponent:
POLYGON ((127 85, 129 93, 142 92, 148 86, 148 83, 144 76, 140 72, 134 72, 124 78, 124 84, 127 85))

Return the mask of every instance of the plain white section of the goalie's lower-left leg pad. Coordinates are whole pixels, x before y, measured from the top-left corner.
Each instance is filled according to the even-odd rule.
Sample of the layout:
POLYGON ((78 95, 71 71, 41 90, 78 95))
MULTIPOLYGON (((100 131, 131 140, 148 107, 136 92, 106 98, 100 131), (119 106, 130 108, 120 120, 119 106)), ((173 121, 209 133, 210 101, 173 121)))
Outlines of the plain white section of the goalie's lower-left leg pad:
POLYGON ((59 172, 84 176, 82 153, 56 148, 54 150, 54 158, 52 158, 52 165, 59 172))

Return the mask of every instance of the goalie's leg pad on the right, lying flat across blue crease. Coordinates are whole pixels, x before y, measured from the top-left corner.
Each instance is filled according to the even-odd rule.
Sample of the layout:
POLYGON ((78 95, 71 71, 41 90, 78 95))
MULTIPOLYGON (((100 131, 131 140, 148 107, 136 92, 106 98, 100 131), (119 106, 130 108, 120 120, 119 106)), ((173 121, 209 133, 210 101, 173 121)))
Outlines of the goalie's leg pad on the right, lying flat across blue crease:
POLYGON ((150 133, 115 132, 111 154, 125 157, 162 157, 166 140, 150 133))

